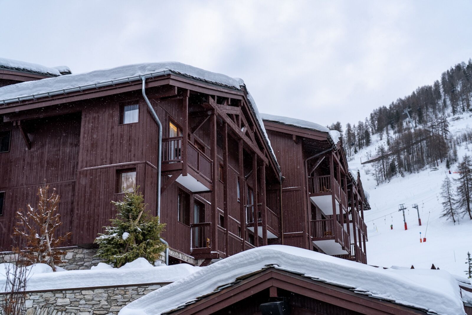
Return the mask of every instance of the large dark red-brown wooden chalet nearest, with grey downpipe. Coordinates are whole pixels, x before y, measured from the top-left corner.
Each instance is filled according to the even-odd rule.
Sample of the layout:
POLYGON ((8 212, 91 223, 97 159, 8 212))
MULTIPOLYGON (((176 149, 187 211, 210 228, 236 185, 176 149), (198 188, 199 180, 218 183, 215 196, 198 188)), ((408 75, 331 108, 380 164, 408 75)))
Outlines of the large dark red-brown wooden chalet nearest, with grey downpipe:
POLYGON ((241 80, 180 63, 37 79, 0 88, 1 250, 44 182, 61 196, 65 245, 91 246, 115 215, 110 201, 134 186, 153 214, 160 194, 175 258, 281 242, 280 170, 241 80), (149 107, 162 124, 161 187, 149 107))

